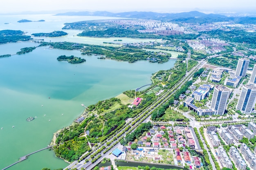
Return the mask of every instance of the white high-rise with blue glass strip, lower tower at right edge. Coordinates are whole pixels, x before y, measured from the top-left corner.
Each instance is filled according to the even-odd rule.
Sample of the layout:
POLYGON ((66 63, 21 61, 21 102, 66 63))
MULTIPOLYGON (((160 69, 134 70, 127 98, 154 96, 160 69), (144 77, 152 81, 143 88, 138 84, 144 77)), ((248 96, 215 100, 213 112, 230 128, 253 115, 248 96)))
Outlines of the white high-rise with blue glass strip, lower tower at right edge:
POLYGON ((236 109, 242 113, 250 114, 255 104, 256 87, 254 85, 244 85, 236 105, 236 109))

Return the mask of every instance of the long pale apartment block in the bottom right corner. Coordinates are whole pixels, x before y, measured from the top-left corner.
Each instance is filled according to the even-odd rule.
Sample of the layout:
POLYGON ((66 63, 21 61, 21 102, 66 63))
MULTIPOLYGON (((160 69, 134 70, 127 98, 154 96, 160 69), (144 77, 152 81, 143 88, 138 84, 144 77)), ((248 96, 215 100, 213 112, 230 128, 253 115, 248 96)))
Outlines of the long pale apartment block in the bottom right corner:
POLYGON ((256 170, 256 157, 246 144, 241 144, 240 151, 253 170, 256 170))

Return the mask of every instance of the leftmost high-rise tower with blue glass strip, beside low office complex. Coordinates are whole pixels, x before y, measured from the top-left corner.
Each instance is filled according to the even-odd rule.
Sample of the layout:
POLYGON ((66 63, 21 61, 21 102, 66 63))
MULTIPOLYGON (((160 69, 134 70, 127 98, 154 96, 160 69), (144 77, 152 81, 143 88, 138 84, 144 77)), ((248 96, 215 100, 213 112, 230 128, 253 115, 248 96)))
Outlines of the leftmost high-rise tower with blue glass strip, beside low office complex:
POLYGON ((223 115, 229 98, 229 89, 225 86, 215 86, 211 100, 211 108, 216 110, 216 115, 223 115))

